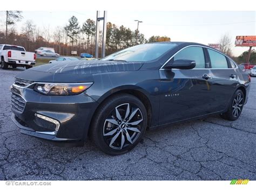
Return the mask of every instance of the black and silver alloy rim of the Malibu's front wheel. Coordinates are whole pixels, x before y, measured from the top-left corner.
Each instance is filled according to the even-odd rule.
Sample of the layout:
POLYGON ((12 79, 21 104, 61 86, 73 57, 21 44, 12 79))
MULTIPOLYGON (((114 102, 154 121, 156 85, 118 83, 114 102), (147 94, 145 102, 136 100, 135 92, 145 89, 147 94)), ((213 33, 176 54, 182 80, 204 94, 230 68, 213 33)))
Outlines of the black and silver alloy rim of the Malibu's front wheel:
POLYGON ((130 103, 114 108, 105 119, 103 136, 105 142, 116 150, 133 144, 139 137, 143 115, 140 109, 130 103))

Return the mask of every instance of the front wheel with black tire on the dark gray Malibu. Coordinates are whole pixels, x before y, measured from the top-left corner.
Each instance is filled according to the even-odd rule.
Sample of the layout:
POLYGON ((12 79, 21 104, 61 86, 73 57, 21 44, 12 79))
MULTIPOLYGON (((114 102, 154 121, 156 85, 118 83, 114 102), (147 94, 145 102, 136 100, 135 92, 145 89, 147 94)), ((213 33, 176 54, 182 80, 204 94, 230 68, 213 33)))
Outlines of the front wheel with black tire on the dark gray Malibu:
POLYGON ((108 98, 97 109, 91 124, 92 142, 106 154, 124 154, 142 139, 147 125, 143 103, 130 94, 108 98))

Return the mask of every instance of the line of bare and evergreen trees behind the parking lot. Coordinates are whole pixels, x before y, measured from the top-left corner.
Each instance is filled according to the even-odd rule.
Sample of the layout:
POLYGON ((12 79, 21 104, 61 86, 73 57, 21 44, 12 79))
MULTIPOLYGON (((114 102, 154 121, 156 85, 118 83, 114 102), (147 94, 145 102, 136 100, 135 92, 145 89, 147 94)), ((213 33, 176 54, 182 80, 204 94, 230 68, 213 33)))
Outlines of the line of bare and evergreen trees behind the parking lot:
MULTIPOLYGON (((77 51, 78 54, 87 52, 94 55, 95 53, 95 20, 87 19, 80 24, 78 19, 72 16, 64 27, 57 26, 53 31, 50 26, 39 29, 32 20, 26 20, 21 32, 18 33, 15 24, 22 19, 21 11, 6 11, 6 28, 5 31, 0 32, 0 44, 24 46, 31 52, 39 47, 53 47, 60 55, 70 55, 71 51, 77 51)), ((102 31, 99 32, 99 37, 99 46, 101 46, 102 31)), ((155 41, 171 41, 171 38, 152 36, 146 39, 144 34, 137 30, 107 23, 106 55, 137 44, 155 41)))

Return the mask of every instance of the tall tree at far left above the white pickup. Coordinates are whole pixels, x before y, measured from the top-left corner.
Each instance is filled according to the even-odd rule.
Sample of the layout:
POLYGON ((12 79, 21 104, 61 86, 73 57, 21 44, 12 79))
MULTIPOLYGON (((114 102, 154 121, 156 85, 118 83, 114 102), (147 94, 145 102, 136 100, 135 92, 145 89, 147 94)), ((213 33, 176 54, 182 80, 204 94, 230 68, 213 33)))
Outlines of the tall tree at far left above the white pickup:
POLYGON ((21 21, 23 16, 22 11, 5 11, 6 22, 5 22, 5 40, 8 41, 8 25, 15 25, 16 22, 21 21))

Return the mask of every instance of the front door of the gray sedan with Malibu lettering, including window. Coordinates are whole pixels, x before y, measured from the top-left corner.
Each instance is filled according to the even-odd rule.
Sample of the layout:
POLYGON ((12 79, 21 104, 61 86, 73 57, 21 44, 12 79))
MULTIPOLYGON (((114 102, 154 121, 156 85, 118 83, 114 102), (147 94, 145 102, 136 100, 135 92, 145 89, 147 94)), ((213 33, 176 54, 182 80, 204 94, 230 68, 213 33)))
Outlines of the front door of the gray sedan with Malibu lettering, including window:
MULTIPOLYGON (((159 124, 180 121, 211 112, 210 69, 205 49, 189 46, 174 54, 173 61, 196 61, 194 69, 160 69, 159 124)), ((171 59, 171 60, 172 60, 171 59)))

